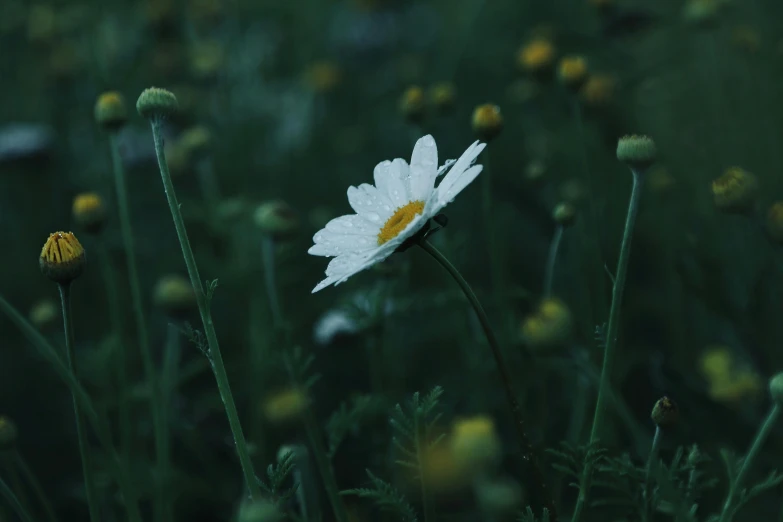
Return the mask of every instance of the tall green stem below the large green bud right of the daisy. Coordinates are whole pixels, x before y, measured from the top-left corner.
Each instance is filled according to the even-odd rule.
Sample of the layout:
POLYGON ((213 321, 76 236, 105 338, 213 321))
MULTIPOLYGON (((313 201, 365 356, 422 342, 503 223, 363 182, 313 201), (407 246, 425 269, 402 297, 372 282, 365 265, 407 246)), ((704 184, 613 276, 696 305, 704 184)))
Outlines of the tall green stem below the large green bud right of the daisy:
MULTIPOLYGON (((631 240, 633 239, 633 229, 636 223, 636 215, 639 212, 639 201, 642 195, 642 185, 644 182, 644 171, 631 169, 633 174, 633 186, 631 188, 631 199, 628 204, 628 215, 625 219, 625 231, 623 240, 620 244, 620 257, 617 260, 617 273, 615 274, 614 286, 612 287, 612 305, 609 309, 609 324, 606 329, 606 348, 604 350, 604 362, 601 367, 601 380, 598 384, 598 399, 595 404, 595 413, 593 415, 593 428, 590 432, 590 445, 598 441, 600 431, 603 427, 604 413, 606 410, 608 397, 611 394, 611 377, 614 366, 614 358, 617 352, 617 336, 620 330, 620 309, 623 302, 623 290, 625 289, 625 279, 628 275, 628 260, 631 257, 631 240)), ((578 522, 582 516, 587 495, 590 491, 590 482, 593 474, 593 466, 585 465, 582 470, 582 478, 579 483, 579 496, 576 500, 574 515, 571 522, 578 522)))

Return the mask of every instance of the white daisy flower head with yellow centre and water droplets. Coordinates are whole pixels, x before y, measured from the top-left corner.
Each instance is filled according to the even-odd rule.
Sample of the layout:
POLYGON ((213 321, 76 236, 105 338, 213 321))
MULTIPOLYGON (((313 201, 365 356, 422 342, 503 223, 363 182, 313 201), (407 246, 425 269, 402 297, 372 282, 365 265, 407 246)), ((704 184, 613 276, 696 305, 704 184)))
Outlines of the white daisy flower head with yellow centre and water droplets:
POLYGON ((331 220, 313 236, 315 245, 308 250, 314 256, 334 257, 313 293, 392 255, 476 179, 483 167, 473 162, 485 146, 476 141, 457 161, 438 168, 438 148, 427 135, 413 147, 410 165, 401 158, 383 161, 375 167, 374 186, 348 187, 348 203, 356 214, 331 220), (436 187, 435 178, 447 170, 436 187))

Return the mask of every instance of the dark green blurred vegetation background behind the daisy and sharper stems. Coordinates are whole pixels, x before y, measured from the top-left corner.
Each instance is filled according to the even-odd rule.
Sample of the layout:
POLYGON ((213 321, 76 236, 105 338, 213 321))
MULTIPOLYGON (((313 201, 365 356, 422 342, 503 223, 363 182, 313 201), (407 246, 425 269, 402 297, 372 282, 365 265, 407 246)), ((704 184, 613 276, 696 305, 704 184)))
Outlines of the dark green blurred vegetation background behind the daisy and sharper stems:
MULTIPOLYGON (((297 401, 280 395, 293 392, 278 355, 299 346, 314 356, 309 372, 320 375, 309 406, 327 438, 336 429, 327 420, 343 401, 372 398, 335 450, 340 488, 365 485, 369 468, 415 506, 418 490, 393 464, 387 413, 416 391, 443 387, 444 432, 456 418, 492 419, 505 473, 515 475, 508 462, 518 450, 490 353, 457 287, 416 250, 311 295, 326 265, 306 253, 312 234, 350 212, 346 188, 371 182, 376 163, 409 158, 426 133, 441 163, 456 158, 476 139, 474 109, 499 107, 502 132, 479 159, 485 172, 446 209, 449 225, 435 241, 498 330, 565 519, 574 493, 560 486, 565 479, 543 450, 584 443, 589 433, 601 364, 595 332, 607 320, 631 184, 615 146, 627 133, 652 136, 659 161, 647 176, 634 237, 612 376, 618 400, 602 444, 643 463, 655 430, 652 405, 668 395, 681 418, 662 454, 695 443, 711 455, 708 473, 719 485, 705 493, 704 516, 719 511, 718 452, 746 450, 769 406, 767 380, 783 369, 783 212, 770 212, 783 200, 778 0, 3 0, 0 39, 0 223, 9 246, 0 292, 61 346, 57 291, 35 258, 50 232, 79 236, 89 260, 73 289, 82 381, 114 423, 125 400, 116 380, 123 340, 128 451, 144 506, 156 487, 150 388, 135 349, 108 140, 93 117, 108 90, 120 92, 132 113, 118 139, 157 367, 167 346, 181 344, 170 404, 176 519, 231 519, 242 496, 209 364, 180 333, 186 322, 199 327, 198 314, 187 299, 177 308, 161 286, 186 273, 149 125, 131 110, 154 85, 179 99, 180 112, 166 125, 167 158, 202 277, 219 280, 213 316, 257 470, 275 462, 282 445, 307 444, 291 421, 297 401), (586 64, 576 87, 559 77, 567 56, 586 64), (711 182, 733 167, 752 182, 741 208, 726 209, 716 205, 711 182), (107 209, 98 235, 82 232, 73 215, 84 192, 96 192, 107 209), (541 318, 559 226, 552 211, 562 202, 576 219, 557 259, 558 308, 541 326, 530 321, 541 318), (265 241, 274 247, 266 267, 265 241), (119 332, 106 267, 121 296, 119 332)), ((67 389, 11 322, 0 318, 0 329, 0 414, 17 427, 0 476, 21 484, 32 511, 43 513, 12 457, 23 455, 60 519, 83 520, 67 389)), ((783 463, 781 434, 776 426, 754 475, 783 463)), ((515 480, 518 491, 504 490, 509 512, 537 506, 526 479, 515 480)), ((317 484, 310 495, 330 520, 317 484)), ((486 501, 464 484, 444 489, 436 502, 444 520, 507 515, 487 515, 486 501)), ((117 501, 108 477, 101 491, 106 505, 117 501)), ((346 501, 356 520, 380 516, 371 503, 346 501)), ((747 510, 776 520, 780 489, 747 510)), ((586 514, 625 516, 617 505, 586 514)))

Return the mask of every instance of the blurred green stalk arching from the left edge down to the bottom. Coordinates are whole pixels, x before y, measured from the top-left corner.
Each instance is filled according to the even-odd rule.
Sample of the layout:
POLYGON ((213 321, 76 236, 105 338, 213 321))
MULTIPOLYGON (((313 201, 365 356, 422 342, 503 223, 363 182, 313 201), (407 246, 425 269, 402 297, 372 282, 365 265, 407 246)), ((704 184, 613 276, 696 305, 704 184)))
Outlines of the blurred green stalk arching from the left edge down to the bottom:
POLYGON ((95 434, 98 437, 98 441, 103 446, 106 453, 111 458, 108 462, 112 465, 117 484, 120 487, 122 496, 125 503, 125 509, 128 512, 128 519, 130 522, 142 522, 141 513, 139 512, 138 497, 136 491, 133 488, 133 482, 127 474, 127 471, 123 467, 120 457, 117 454, 117 450, 111 440, 111 431, 105 420, 98 416, 93 407, 92 400, 87 392, 84 390, 76 375, 71 371, 68 365, 63 362, 62 358, 58 354, 57 350, 52 346, 41 333, 35 329, 30 322, 20 314, 16 308, 0 296, 0 310, 6 314, 6 316, 13 322, 22 334, 30 341, 30 343, 38 350, 41 357, 46 359, 52 365, 57 375, 71 390, 71 394, 74 399, 78 401, 79 406, 82 408, 82 412, 86 416, 87 420, 95 430, 95 434))

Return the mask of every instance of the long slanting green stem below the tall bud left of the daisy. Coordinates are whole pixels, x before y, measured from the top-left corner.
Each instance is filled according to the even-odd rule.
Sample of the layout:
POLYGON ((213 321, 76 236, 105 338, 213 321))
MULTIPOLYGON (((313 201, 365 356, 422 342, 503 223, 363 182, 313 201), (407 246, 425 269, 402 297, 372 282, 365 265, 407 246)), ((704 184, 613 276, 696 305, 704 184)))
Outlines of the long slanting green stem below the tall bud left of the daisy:
POLYGON ((226 416, 228 417, 228 423, 231 427, 231 433, 234 436, 234 444, 239 456, 239 462, 242 465, 242 471, 245 476, 250 498, 251 500, 258 500, 261 498, 261 491, 256 482, 253 462, 250 460, 250 453, 247 449, 245 435, 242 433, 242 425, 239 422, 237 407, 234 404, 234 397, 231 394, 231 386, 229 385, 228 375, 226 374, 226 368, 223 364, 223 356, 220 353, 220 345, 218 344, 217 334, 215 333, 215 326, 212 324, 212 312, 209 308, 206 293, 204 292, 201 276, 198 273, 198 265, 196 265, 193 249, 190 248, 190 239, 188 239, 188 231, 185 228, 185 220, 182 218, 182 212, 180 212, 177 194, 174 191, 174 184, 171 182, 171 174, 169 174, 169 167, 163 152, 162 122, 159 118, 153 118, 150 120, 150 125, 152 127, 152 138, 155 142, 155 155, 158 158, 160 177, 163 181, 163 189, 166 192, 166 200, 169 203, 171 217, 174 219, 174 228, 177 230, 177 237, 179 238, 179 244, 182 248, 182 256, 185 259, 190 282, 193 285, 193 289, 196 291, 196 302, 198 304, 201 322, 204 325, 204 335, 207 338, 210 362, 212 363, 212 370, 215 374, 220 398, 223 399, 223 405, 226 409, 226 416))

